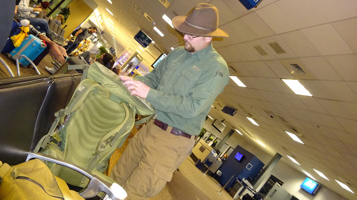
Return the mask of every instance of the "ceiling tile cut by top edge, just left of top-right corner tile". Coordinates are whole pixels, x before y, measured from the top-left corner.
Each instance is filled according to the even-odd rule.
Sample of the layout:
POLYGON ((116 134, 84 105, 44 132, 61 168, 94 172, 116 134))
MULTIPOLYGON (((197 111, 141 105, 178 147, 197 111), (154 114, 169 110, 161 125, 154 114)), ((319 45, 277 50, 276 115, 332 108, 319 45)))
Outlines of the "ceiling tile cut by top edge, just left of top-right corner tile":
POLYGON ((276 4, 299 29, 327 22, 308 0, 279 0, 276 4))

